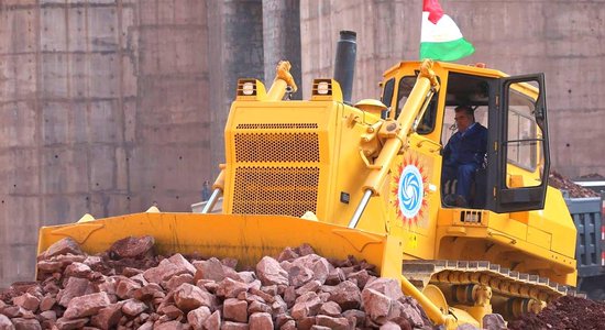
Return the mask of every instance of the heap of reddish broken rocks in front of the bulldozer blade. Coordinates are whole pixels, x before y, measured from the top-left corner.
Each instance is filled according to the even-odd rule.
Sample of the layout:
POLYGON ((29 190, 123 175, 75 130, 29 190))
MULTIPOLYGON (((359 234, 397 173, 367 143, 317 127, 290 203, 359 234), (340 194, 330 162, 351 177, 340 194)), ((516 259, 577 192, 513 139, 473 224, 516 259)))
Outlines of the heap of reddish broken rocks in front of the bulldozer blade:
POLYGON ((397 280, 308 245, 237 261, 153 253, 151 237, 87 255, 64 239, 38 256, 38 278, 0 295, 0 329, 432 329, 397 280))

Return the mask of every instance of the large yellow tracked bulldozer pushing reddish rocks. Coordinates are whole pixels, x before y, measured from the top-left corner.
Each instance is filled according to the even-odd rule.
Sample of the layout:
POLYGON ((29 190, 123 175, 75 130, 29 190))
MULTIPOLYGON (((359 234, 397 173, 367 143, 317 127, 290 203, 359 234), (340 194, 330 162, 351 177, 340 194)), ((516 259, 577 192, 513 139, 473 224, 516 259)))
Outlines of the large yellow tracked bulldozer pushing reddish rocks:
MULTIPOLYGON (((343 35, 345 58, 355 44, 343 35)), ((571 293, 575 228, 561 193, 548 186, 542 74, 402 62, 384 73, 380 100, 353 105, 352 66, 343 67, 334 79, 315 79, 308 100, 288 99, 297 87, 287 62, 268 90, 260 80, 239 80, 226 163, 202 213, 152 208, 85 217, 42 228, 38 253, 66 237, 97 253, 127 235, 151 234, 161 253, 250 265, 309 243, 327 257, 376 265, 447 328, 481 327, 493 312, 505 319, 537 312, 571 293), (459 106, 471 107, 488 130, 465 206, 444 200, 457 183, 442 179, 459 106), (222 210, 211 213, 221 196, 222 210)))

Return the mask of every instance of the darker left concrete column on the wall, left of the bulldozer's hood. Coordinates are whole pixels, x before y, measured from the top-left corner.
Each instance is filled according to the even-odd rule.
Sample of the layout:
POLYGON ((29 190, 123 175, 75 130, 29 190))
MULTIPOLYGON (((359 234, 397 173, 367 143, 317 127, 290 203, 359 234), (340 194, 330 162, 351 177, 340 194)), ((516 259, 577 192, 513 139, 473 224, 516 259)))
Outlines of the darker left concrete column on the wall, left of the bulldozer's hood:
MULTIPOLYGON (((224 124, 238 78, 264 80, 262 0, 208 1, 211 158, 224 163, 224 124)), ((213 180, 213 178, 209 178, 213 180)))

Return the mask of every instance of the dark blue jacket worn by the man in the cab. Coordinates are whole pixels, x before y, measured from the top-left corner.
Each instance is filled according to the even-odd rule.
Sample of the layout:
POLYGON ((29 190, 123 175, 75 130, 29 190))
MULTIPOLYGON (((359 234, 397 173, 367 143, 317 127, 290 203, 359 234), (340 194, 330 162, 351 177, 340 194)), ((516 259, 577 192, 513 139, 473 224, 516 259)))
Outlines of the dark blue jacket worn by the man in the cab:
POLYGON ((443 166, 462 164, 482 166, 487 151, 487 129, 475 122, 464 133, 455 132, 443 150, 443 166))

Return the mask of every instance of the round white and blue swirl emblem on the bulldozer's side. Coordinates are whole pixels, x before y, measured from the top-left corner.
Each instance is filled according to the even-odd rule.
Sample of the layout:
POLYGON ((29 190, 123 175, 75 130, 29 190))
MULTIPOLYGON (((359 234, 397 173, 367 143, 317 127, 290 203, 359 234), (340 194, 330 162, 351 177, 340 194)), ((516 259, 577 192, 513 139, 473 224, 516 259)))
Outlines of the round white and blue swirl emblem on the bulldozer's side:
POLYGON ((399 209, 404 217, 411 219, 422 207, 422 176, 416 166, 407 165, 399 177, 399 209))

